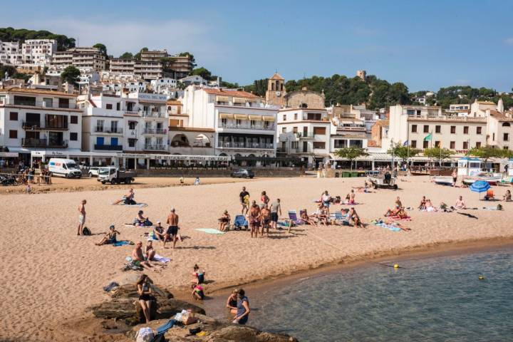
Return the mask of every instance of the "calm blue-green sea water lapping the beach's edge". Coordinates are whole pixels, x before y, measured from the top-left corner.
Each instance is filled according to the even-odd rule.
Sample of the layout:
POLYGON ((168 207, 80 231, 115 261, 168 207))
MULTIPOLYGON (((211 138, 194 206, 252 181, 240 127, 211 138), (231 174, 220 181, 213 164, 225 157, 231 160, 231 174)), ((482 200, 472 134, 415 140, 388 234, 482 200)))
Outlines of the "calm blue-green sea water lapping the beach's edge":
POLYGON ((504 249, 314 276, 249 294, 249 325, 299 341, 513 341, 512 262, 504 249))

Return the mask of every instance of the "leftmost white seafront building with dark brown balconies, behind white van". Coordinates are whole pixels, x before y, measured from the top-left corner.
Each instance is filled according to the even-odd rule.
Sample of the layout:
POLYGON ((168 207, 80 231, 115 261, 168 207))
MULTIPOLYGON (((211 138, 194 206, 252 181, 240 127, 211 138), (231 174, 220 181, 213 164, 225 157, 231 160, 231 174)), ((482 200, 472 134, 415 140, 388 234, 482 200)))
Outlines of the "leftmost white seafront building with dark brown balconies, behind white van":
POLYGON ((76 95, 57 91, 0 89, 0 145, 19 152, 80 151, 82 110, 76 95))

